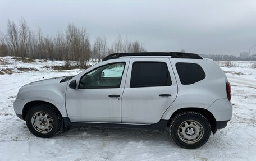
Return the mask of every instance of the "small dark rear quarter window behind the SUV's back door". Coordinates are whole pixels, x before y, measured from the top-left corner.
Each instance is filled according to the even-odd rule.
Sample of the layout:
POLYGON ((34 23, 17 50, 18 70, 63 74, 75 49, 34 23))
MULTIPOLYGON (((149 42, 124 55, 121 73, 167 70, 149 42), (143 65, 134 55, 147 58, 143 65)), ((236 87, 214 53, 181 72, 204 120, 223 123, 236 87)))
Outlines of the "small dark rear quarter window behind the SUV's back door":
POLYGON ((183 85, 194 84, 205 78, 203 68, 196 63, 176 63, 175 66, 183 85))

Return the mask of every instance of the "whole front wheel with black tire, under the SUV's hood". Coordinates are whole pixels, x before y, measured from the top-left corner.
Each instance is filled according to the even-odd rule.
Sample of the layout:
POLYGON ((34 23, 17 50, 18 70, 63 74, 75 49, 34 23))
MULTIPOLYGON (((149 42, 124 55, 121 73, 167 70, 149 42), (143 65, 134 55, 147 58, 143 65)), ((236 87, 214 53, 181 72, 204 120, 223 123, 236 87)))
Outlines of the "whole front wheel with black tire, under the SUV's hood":
POLYGON ((26 125, 35 136, 48 138, 60 132, 62 116, 51 105, 36 104, 26 114, 26 125))

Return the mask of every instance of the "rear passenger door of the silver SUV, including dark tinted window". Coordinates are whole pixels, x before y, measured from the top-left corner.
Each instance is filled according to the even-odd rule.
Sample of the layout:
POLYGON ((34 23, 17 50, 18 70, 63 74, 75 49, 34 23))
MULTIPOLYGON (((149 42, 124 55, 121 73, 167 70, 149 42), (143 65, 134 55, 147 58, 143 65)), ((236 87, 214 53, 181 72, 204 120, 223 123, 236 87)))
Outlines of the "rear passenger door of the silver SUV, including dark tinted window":
POLYGON ((157 123, 176 96, 169 59, 131 58, 121 103, 122 123, 157 123))

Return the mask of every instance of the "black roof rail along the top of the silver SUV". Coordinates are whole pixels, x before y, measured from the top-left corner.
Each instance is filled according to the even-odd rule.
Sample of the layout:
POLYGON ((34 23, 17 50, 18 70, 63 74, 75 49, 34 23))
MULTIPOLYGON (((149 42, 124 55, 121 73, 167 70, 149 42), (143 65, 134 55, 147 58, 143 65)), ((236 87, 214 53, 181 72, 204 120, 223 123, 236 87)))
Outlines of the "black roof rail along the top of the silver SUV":
POLYGON ((127 56, 171 56, 171 58, 203 59, 198 54, 193 54, 193 53, 144 52, 144 53, 114 53, 104 57, 102 61, 107 61, 109 59, 117 59, 120 57, 127 57, 127 56))

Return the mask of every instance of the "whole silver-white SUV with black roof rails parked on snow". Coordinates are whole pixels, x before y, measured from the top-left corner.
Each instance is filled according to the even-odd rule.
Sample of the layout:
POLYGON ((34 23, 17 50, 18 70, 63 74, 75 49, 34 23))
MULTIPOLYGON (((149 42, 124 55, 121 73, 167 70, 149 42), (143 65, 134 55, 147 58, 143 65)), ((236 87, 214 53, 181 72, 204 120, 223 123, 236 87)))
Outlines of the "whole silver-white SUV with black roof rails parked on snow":
POLYGON ((191 53, 115 53, 76 76, 32 82, 19 90, 17 116, 38 137, 70 126, 168 128, 194 149, 232 116, 231 88, 211 59, 191 53))

